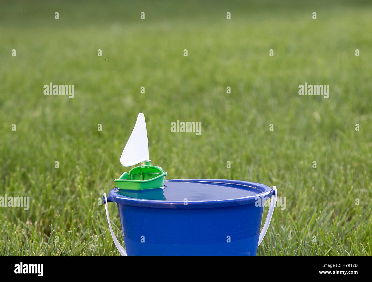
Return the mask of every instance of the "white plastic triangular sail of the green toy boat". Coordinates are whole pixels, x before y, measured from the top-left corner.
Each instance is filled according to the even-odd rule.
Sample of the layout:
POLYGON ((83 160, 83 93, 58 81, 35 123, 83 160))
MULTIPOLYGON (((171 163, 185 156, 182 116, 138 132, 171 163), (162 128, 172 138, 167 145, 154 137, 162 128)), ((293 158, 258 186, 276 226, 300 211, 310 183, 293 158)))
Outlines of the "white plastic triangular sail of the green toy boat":
POLYGON ((121 154, 120 162, 124 167, 130 167, 143 161, 149 161, 148 140, 145 116, 139 113, 132 134, 121 154))

